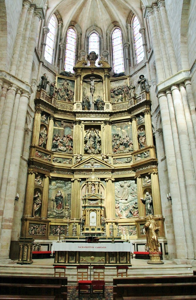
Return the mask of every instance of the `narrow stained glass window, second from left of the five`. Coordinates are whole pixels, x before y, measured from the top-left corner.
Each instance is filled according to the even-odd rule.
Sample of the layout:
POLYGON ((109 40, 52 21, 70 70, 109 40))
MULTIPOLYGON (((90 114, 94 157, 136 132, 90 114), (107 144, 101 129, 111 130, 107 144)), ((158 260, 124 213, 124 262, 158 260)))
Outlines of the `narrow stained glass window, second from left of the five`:
POLYGON ((73 73, 76 56, 76 32, 73 28, 67 30, 67 41, 65 50, 65 71, 73 73))

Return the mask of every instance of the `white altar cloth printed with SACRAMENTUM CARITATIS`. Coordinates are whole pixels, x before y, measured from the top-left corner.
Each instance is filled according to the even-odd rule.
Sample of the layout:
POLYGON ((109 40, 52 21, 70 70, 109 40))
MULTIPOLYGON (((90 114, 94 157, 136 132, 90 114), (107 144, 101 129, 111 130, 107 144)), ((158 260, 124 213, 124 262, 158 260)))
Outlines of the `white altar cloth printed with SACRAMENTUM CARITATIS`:
POLYGON ((52 243, 53 251, 132 252, 132 243, 52 243))

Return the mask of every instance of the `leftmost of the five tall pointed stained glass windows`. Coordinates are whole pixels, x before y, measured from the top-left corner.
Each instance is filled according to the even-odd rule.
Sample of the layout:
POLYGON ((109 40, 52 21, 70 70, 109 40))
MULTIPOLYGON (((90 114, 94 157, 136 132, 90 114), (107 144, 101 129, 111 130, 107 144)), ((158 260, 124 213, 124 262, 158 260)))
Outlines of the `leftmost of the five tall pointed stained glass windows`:
POLYGON ((54 51, 54 39, 56 33, 57 22, 55 20, 54 15, 51 16, 50 22, 48 24, 49 32, 46 38, 46 46, 45 46, 45 60, 47 60, 50 64, 52 63, 52 56, 54 51))

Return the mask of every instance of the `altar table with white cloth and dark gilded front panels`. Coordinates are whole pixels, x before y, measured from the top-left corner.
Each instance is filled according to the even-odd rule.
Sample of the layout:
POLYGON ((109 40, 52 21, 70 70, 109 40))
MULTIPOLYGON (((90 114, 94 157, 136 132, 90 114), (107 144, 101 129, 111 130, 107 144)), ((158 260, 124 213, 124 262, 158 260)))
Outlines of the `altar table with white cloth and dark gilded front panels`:
POLYGON ((132 243, 53 243, 54 265, 131 265, 132 243))

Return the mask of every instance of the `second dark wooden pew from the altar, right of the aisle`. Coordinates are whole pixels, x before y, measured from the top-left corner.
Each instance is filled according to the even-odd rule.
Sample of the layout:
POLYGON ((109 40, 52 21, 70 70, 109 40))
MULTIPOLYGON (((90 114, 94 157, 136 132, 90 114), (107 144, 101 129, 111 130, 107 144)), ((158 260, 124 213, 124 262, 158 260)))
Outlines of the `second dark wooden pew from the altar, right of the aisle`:
POLYGON ((195 295, 196 283, 117 284, 116 287, 113 287, 113 291, 114 299, 129 295, 136 297, 138 294, 140 297, 195 295))

